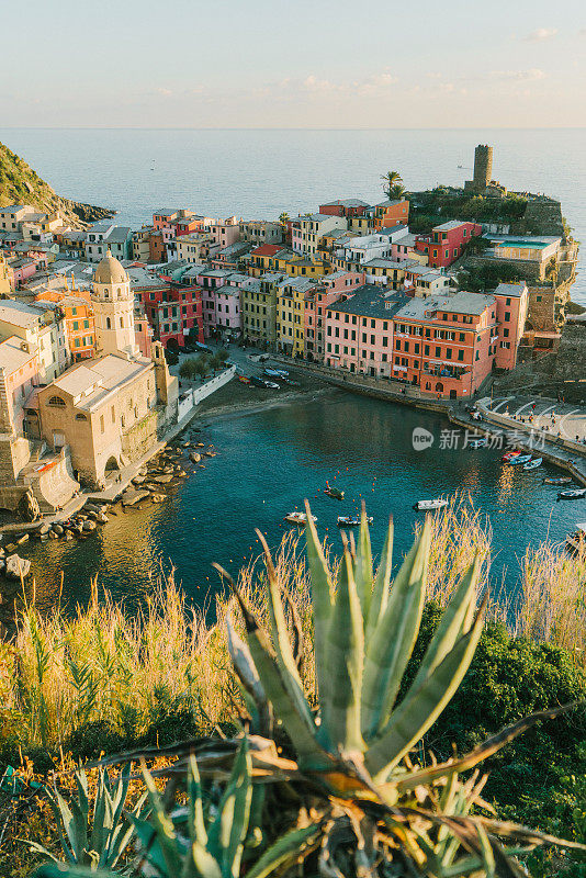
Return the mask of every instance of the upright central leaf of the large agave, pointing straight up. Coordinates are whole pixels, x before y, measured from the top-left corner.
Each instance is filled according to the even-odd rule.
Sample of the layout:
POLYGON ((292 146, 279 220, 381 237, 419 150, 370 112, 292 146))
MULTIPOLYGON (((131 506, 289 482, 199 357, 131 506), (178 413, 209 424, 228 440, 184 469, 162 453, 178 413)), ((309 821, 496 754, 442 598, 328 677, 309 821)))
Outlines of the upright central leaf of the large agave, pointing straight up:
POLYGON ((323 703, 323 722, 335 748, 362 751, 360 693, 364 663, 364 629, 352 559, 345 541, 336 603, 327 635, 330 691, 323 703))

